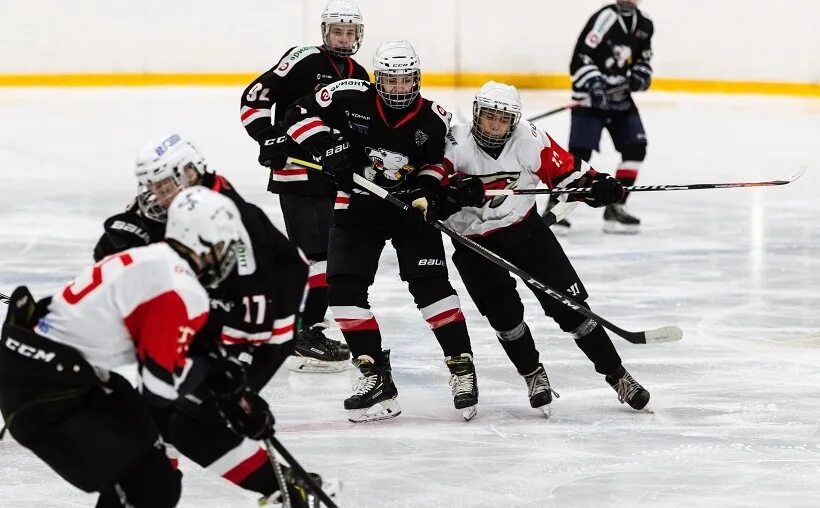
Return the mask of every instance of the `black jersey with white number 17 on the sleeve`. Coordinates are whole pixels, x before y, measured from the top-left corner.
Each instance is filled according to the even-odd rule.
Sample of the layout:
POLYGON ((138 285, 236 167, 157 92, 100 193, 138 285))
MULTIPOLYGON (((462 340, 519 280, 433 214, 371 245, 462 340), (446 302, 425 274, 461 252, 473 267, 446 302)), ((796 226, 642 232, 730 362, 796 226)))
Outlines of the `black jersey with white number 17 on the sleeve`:
MULTIPOLYGON (((249 261, 251 258, 243 258, 245 253, 240 252, 237 270, 210 294, 212 311, 208 329, 220 333, 225 344, 290 340, 306 289, 307 261, 267 215, 245 201, 227 179, 206 173, 201 184, 236 204, 253 254, 249 261), (253 263, 253 273, 242 274, 243 263, 253 263)), ((164 223, 148 221, 136 207, 131 207, 105 221, 105 233, 94 248, 94 257, 101 259, 131 247, 148 245, 164 236, 164 223), (150 229, 146 224, 151 224, 150 229), (117 241, 112 242, 112 238, 117 241)))

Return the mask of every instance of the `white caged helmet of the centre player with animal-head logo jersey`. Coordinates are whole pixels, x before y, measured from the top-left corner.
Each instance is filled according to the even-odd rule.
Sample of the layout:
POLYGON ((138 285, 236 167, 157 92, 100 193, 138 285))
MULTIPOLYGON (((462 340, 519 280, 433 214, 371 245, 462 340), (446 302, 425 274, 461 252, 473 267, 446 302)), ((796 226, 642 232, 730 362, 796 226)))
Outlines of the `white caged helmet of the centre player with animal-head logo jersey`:
POLYGON ((407 41, 383 42, 373 55, 376 91, 385 104, 404 109, 419 95, 421 61, 407 41))

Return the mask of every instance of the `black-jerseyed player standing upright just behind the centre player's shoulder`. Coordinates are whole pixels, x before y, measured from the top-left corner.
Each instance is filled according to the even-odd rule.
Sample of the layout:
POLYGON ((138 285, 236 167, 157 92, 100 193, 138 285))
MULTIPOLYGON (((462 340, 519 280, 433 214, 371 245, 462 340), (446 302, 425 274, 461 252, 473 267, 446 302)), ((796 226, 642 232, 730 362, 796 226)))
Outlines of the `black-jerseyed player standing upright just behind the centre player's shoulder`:
POLYGON ((285 110, 299 97, 340 79, 370 79, 351 58, 364 34, 356 3, 330 0, 321 20, 322 45, 289 49, 275 67, 248 85, 241 109, 242 125, 259 143, 259 163, 270 168, 268 190, 279 195, 288 237, 310 261, 310 290, 296 338, 298 361, 290 364, 301 372, 343 370, 350 352, 322 331, 327 311, 328 231, 336 188, 320 175, 286 164, 288 154, 306 160, 310 156, 288 139, 281 122, 285 110))

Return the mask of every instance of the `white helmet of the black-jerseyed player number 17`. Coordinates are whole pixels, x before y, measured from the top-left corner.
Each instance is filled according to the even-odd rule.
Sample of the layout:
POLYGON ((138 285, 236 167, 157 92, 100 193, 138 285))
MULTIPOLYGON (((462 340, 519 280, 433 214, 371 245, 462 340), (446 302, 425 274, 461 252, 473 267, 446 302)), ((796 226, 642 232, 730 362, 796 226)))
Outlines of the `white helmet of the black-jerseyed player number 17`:
POLYGON ((149 219, 164 222, 171 200, 208 166, 199 149, 179 134, 149 143, 137 155, 137 204, 149 219), (193 173, 195 172, 195 173, 193 173))

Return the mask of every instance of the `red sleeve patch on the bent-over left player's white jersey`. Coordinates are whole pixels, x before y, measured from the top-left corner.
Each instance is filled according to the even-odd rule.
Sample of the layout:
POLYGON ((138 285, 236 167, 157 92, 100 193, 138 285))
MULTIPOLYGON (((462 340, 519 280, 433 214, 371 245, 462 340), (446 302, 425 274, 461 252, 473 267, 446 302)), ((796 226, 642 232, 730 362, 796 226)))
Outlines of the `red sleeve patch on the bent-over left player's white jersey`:
POLYGON ((173 374, 185 365, 188 346, 207 317, 206 311, 189 319, 182 297, 176 291, 167 291, 142 302, 124 321, 137 357, 143 362, 151 358, 173 374))

